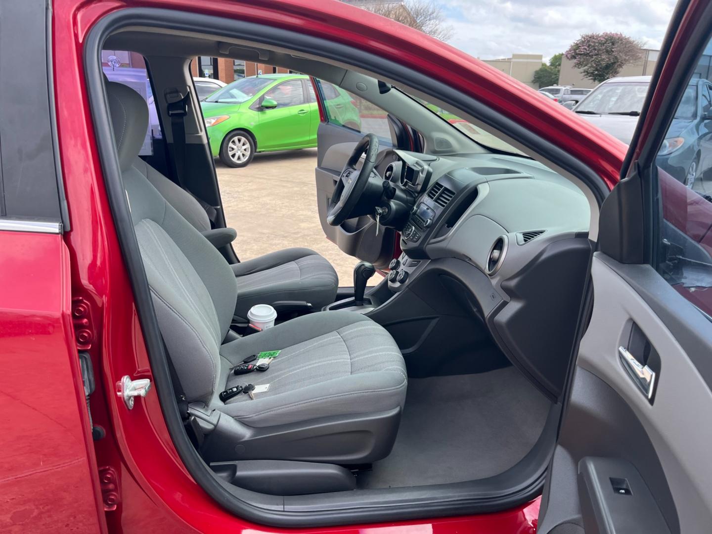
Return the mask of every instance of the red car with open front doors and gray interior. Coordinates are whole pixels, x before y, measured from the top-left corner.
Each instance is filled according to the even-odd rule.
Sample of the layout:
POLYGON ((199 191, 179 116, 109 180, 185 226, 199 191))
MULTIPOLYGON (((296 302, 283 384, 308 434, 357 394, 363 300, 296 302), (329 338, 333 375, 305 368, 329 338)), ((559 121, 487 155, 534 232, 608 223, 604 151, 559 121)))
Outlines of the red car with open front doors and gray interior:
POLYGON ((657 160, 711 20, 674 11, 627 147, 337 1, 4 2, 0 530, 708 532, 712 202, 657 160), (204 53, 370 103, 356 129, 315 91, 313 194, 265 214, 312 210, 342 287, 308 248, 239 261, 204 53))

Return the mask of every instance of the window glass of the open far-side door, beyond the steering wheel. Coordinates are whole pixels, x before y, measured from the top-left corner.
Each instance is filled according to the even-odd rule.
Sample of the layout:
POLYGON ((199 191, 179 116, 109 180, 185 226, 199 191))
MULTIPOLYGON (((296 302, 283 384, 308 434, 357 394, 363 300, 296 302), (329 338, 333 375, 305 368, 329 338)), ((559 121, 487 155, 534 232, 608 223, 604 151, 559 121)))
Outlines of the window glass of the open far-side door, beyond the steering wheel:
POLYGON ((364 134, 375 133, 386 142, 392 142, 387 112, 332 83, 322 80, 318 83, 329 122, 364 134))

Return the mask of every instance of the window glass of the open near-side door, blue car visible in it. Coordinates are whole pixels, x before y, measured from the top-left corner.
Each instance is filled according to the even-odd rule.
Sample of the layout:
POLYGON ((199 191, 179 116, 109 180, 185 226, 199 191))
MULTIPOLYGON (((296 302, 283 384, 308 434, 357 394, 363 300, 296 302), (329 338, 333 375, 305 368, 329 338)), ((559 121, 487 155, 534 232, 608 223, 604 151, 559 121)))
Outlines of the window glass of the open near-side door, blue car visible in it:
POLYGON ((656 267, 712 315, 712 116, 709 83, 700 70, 685 88, 656 157, 662 204, 656 267))

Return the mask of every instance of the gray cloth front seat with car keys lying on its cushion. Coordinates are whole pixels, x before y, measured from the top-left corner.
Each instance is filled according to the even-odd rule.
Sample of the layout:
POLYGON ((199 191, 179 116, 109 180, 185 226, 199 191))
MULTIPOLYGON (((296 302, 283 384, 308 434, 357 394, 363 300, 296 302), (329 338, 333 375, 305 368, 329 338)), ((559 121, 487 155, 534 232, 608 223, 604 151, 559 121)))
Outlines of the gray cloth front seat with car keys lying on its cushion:
MULTIPOLYGON (((236 273, 134 166, 148 121, 145 105, 135 102, 143 102, 140 95, 111 83, 107 93, 157 322, 206 433, 204 459, 360 464, 386 456, 407 387, 393 338, 364 315, 320 312, 224 342, 239 295, 236 273), (281 351, 266 372, 232 374, 246 356, 266 350, 281 351), (268 390, 255 399, 219 399, 224 389, 248 382, 269 384, 268 390)), ((310 261, 310 254, 289 257, 297 268, 310 261)), ((265 265, 276 268, 278 258, 271 262, 265 265)), ((254 273, 269 271, 258 267, 254 273)))

